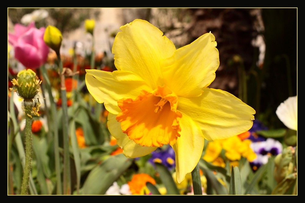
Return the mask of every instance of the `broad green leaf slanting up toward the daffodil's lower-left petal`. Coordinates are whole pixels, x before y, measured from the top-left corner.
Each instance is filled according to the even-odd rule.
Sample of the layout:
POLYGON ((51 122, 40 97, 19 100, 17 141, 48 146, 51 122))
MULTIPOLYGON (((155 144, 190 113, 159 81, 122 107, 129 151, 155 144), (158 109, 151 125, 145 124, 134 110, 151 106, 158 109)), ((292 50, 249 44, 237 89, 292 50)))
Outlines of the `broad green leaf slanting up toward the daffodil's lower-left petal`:
POLYGON ((131 166, 131 163, 132 159, 125 157, 123 154, 110 156, 102 164, 91 170, 81 188, 81 194, 105 194, 113 182, 131 166))

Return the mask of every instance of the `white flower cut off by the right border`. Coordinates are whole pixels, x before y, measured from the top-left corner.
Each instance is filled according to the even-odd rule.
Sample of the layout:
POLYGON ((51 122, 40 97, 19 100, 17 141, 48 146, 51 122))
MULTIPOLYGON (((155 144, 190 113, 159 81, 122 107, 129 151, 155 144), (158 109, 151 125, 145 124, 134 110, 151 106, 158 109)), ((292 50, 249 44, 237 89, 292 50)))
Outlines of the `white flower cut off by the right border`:
POLYGON ((297 96, 289 97, 282 102, 278 109, 276 109, 276 115, 284 123, 286 127, 292 130, 298 129, 298 103, 297 96))

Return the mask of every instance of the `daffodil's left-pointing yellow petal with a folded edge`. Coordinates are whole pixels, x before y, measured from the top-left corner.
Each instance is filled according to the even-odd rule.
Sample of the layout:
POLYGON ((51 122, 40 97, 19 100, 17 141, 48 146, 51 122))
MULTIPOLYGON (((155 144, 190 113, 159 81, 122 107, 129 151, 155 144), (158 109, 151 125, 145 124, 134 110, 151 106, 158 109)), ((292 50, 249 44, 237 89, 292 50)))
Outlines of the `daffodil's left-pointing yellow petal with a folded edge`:
POLYGON ((122 98, 136 98, 141 90, 152 89, 138 75, 129 71, 107 72, 96 69, 86 69, 86 85, 90 94, 99 103, 104 103, 105 108, 118 114, 121 109, 117 101, 122 98))

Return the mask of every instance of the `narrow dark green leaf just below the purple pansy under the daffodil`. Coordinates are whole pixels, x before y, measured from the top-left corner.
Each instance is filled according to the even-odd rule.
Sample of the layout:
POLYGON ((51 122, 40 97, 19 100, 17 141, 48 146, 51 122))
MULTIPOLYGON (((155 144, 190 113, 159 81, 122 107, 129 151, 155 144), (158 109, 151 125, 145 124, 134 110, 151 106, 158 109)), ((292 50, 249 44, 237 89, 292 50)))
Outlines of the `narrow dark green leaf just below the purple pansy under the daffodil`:
POLYGON ((161 163, 155 163, 156 170, 160 174, 160 179, 162 180, 162 183, 166 187, 167 194, 180 194, 179 190, 176 186, 176 183, 174 182, 174 179, 166 166, 164 166, 161 163))

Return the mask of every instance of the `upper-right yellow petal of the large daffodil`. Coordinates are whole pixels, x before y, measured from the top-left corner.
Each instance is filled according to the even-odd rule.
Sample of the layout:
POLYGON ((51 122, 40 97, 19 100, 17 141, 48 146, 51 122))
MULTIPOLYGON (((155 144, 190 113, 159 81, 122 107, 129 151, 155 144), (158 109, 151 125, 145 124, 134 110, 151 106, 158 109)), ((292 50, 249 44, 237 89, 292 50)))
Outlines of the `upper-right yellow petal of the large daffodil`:
POLYGON ((206 33, 191 44, 177 49, 173 64, 163 69, 165 84, 178 96, 197 97, 215 79, 219 52, 215 36, 206 33))

